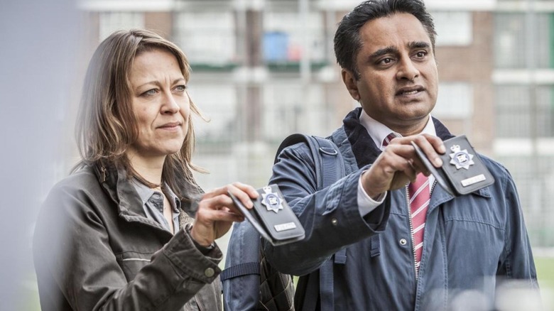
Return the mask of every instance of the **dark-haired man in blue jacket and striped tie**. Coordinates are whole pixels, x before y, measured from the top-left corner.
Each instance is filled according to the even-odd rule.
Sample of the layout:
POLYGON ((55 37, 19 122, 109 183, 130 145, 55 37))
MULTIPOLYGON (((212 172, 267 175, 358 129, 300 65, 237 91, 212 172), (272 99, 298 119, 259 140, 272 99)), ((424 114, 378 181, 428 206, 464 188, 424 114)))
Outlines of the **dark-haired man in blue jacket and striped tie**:
POLYGON ((296 310, 455 310, 460 303, 489 310, 503 280, 537 288, 506 169, 479 155, 496 182, 454 197, 435 187, 415 155, 412 141, 440 167, 442 140, 452 137, 430 116, 438 94, 434 48, 422 1, 366 1, 340 22, 335 55, 362 106, 329 138, 348 175, 316 192, 314 160, 299 143, 279 155, 270 181, 306 231, 298 243, 264 244, 278 270, 303 275, 296 310), (332 256, 344 248, 345 258, 332 256), (328 260, 331 278, 318 270, 328 260))

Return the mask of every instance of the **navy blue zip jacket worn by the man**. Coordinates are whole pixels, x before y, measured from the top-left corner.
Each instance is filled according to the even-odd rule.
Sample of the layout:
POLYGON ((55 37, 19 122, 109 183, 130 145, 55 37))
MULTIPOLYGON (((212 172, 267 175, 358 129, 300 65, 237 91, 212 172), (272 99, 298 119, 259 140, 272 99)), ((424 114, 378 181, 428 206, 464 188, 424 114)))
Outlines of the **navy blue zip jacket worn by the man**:
MULTIPOLYGON (((506 168, 482 155, 494 185, 460 197, 433 188, 416 278, 406 190, 389 192, 368 216, 359 214, 359 176, 381 152, 359 124, 360 111, 351 111, 330 136, 348 174, 330 187, 315 192, 315 168, 305 144, 279 155, 270 183, 281 188, 306 238, 276 247, 265 243, 273 266, 283 273, 308 275, 347 248, 345 263, 334 266, 335 310, 444 310, 468 296, 463 293, 477 293, 492 308, 502 280, 521 279, 528 287, 538 287, 514 181, 506 168), (371 238, 376 234, 377 251, 371 238)), ((452 137, 434 121, 440 138, 452 137)), ((297 310, 307 310, 303 302, 318 293, 315 284, 299 284, 297 294, 305 297, 295 297, 297 310)))

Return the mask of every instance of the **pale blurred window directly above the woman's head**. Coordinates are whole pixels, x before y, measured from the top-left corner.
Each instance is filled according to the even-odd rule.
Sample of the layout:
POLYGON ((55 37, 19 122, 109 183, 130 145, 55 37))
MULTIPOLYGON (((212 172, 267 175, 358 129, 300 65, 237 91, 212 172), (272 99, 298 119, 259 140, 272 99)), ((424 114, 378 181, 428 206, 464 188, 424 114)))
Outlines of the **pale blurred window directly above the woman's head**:
POLYGON ((100 12, 99 41, 114 31, 144 28, 144 13, 139 12, 100 12))

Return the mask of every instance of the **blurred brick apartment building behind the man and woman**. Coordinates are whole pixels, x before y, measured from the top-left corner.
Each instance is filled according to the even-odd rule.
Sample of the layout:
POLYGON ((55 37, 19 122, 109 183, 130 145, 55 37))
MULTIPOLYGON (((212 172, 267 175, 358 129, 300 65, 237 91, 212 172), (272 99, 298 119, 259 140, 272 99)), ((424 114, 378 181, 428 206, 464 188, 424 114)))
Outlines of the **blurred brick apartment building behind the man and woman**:
MULTIPOLYGON (((553 1, 425 2, 438 31, 433 115, 506 164, 533 244, 554 246, 553 1)), ((211 119, 195 123, 195 163, 212 172, 198 175, 200 184, 261 186, 284 137, 330 133, 357 107, 340 80, 332 38, 358 3, 85 0, 82 63, 119 28, 149 28, 178 43, 193 69, 190 95, 211 119)))

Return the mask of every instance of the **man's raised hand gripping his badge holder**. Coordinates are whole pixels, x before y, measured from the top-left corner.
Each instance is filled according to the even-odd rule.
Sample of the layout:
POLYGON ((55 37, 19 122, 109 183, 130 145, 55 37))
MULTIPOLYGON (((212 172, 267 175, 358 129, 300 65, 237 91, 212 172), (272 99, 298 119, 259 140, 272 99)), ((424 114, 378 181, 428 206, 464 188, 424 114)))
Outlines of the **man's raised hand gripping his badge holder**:
POLYGON ((426 176, 430 174, 415 154, 412 141, 427 155, 435 168, 440 168, 442 160, 439 153, 446 152, 440 138, 428 134, 394 138, 362 175, 362 187, 369 197, 375 199, 383 192, 404 187, 414 181, 418 173, 426 176))

